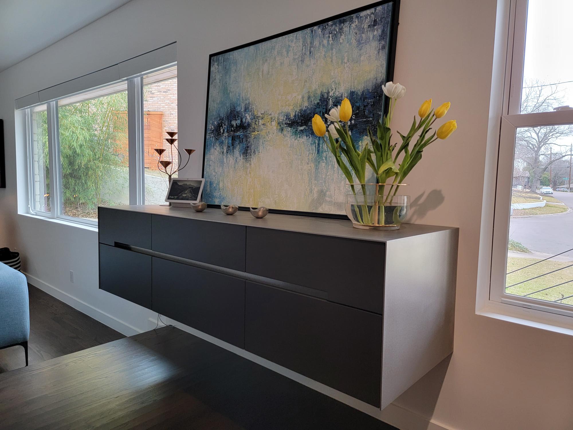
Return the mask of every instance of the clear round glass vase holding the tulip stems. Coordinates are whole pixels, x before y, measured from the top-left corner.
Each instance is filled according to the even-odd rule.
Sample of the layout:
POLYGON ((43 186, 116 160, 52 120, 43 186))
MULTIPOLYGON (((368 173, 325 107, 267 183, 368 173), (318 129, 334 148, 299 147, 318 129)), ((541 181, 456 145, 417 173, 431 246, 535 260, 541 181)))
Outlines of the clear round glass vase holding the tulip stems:
POLYGON ((399 229, 410 211, 410 196, 395 194, 399 186, 380 183, 349 184, 351 193, 346 194, 346 214, 352 221, 352 226, 363 229, 399 229))

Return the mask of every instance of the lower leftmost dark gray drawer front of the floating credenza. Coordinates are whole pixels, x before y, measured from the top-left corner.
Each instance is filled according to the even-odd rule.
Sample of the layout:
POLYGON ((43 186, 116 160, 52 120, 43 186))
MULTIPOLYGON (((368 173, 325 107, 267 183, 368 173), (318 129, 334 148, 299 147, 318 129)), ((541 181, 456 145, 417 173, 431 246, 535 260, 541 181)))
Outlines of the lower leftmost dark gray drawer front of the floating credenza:
POLYGON ((100 289, 151 309, 151 257, 100 244, 100 289))

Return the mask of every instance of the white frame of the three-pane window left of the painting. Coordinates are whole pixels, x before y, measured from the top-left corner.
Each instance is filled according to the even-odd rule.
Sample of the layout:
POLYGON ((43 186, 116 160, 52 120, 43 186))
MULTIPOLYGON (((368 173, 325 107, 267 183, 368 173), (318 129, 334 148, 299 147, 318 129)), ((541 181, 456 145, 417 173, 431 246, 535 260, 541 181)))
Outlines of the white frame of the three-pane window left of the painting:
MULTIPOLYGON (((143 129, 143 77, 151 73, 164 69, 176 67, 176 64, 169 64, 156 68, 152 71, 130 76, 113 83, 100 85, 96 88, 89 88, 85 91, 74 93, 82 95, 94 89, 105 88, 109 85, 124 81, 127 83, 127 117, 128 117, 128 183, 129 183, 129 204, 145 204, 145 157, 144 157, 144 129, 143 129)), ((84 218, 70 217, 63 213, 62 193, 61 193, 61 163, 60 163, 60 132, 58 124, 58 100, 65 99, 71 95, 60 97, 60 99, 40 103, 45 104, 48 114, 48 151, 50 167, 50 212, 36 210, 33 208, 34 201, 34 170, 33 170, 33 125, 32 111, 36 106, 26 108, 26 142, 28 149, 28 212, 32 215, 54 220, 63 220, 74 224, 97 227, 97 221, 86 220, 84 218)))

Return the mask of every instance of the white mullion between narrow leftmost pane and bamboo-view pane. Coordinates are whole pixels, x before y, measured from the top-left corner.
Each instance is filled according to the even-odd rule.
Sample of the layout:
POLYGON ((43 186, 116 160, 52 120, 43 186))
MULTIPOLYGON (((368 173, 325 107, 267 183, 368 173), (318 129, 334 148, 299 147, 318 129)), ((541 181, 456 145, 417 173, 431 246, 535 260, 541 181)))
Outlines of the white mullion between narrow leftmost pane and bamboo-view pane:
POLYGON ((60 163, 60 131, 58 126, 58 102, 50 101, 48 109, 48 153, 50 162, 50 213, 57 218, 62 213, 62 171, 60 163))

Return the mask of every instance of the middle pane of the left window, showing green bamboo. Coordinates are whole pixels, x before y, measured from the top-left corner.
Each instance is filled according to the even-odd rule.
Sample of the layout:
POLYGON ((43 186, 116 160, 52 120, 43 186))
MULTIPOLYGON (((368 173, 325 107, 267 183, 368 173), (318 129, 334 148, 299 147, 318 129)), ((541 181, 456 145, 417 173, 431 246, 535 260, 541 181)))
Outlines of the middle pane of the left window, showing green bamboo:
POLYGON ((97 206, 128 205, 127 83, 58 100, 58 131, 61 213, 97 220, 97 206))

